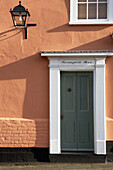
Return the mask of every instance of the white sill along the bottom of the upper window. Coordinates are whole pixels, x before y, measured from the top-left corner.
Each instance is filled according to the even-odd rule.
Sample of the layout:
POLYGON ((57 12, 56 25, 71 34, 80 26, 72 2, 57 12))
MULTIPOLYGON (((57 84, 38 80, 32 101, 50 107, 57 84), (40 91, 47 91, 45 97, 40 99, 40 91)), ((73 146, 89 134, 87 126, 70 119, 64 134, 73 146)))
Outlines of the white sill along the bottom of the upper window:
POLYGON ((82 21, 82 22, 69 22, 69 25, 113 25, 113 22, 109 22, 109 21, 106 21, 106 22, 92 22, 92 21, 82 21))

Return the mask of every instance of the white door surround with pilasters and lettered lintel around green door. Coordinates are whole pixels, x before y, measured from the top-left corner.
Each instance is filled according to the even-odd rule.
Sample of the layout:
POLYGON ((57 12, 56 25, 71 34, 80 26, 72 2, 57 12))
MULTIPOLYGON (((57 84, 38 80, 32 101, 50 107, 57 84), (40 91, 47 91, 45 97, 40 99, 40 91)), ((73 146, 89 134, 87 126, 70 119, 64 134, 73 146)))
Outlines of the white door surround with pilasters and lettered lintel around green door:
POLYGON ((60 71, 93 71, 94 153, 106 154, 105 59, 107 55, 41 54, 49 59, 50 154, 61 153, 60 71), (66 57, 65 57, 66 56, 66 57))

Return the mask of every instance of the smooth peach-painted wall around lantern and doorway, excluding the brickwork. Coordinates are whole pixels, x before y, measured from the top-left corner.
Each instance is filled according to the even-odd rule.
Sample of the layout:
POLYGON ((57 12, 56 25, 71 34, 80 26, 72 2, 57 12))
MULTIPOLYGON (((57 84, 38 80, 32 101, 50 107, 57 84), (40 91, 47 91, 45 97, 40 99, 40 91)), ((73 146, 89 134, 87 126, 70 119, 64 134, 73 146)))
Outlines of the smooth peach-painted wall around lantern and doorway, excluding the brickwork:
MULTIPOLYGON (((48 59, 40 51, 113 50, 112 25, 70 26, 70 0, 22 0, 29 9, 28 39, 9 13, 18 0, 0 0, 0 118, 49 119, 48 59)), ((106 60, 107 140, 113 140, 113 58, 106 60)), ((7 120, 6 120, 7 121, 7 120)), ((48 128, 48 123, 46 123, 48 128)), ((15 132, 16 133, 16 132, 15 132)), ((46 132, 48 135, 48 132, 46 132)), ((45 135, 45 136, 46 136, 45 135)), ((40 146, 41 145, 37 145, 40 146)), ((43 145, 44 146, 44 145, 43 145)), ((46 147, 49 144, 45 145, 46 147)))

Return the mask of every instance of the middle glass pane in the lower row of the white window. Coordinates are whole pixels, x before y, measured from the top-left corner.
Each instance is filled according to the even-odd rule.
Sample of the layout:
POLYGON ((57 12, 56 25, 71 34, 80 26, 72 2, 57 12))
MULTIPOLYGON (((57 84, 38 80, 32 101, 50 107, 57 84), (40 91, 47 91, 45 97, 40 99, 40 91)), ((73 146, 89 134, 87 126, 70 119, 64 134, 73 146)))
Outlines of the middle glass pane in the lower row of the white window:
POLYGON ((97 19, 97 4, 88 4, 88 19, 97 19))

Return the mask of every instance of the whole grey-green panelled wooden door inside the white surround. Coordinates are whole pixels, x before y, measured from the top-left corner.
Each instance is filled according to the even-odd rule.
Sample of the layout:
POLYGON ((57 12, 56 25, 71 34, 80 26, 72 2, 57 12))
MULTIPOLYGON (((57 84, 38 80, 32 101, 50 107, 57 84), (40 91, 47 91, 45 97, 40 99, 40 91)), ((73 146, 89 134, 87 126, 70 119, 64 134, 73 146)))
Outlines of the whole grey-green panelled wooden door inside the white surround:
POLYGON ((93 150, 93 73, 61 72, 62 151, 93 150))

